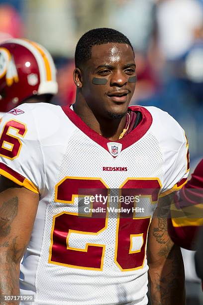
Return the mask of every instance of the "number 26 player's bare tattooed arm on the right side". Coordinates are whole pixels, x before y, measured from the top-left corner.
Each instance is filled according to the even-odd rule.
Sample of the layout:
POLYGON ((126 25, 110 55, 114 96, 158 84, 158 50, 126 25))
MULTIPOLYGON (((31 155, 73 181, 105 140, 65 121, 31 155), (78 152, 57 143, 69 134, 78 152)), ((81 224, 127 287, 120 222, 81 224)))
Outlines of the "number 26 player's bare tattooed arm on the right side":
POLYGON ((170 196, 161 199, 149 228, 147 260, 152 305, 185 305, 185 273, 180 247, 167 231, 170 196), (167 198, 168 197, 168 198, 167 198), (164 205, 163 205, 164 203, 164 205))

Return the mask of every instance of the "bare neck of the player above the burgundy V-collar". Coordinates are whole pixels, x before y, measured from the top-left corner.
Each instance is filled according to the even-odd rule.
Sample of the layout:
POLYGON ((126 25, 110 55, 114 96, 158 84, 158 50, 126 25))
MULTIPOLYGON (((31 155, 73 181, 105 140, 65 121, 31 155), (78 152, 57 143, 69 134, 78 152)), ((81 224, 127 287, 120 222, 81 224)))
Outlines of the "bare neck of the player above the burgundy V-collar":
POLYGON ((73 107, 75 113, 95 132, 111 141, 118 140, 125 126, 126 115, 121 119, 108 119, 96 116, 87 104, 81 107, 79 103, 76 103, 73 107))

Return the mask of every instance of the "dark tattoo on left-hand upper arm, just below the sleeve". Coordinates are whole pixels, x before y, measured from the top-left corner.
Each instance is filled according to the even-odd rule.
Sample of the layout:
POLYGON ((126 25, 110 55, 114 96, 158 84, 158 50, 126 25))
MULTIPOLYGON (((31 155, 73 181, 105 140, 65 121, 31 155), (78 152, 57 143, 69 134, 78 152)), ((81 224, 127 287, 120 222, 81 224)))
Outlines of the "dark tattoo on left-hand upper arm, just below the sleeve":
POLYGON ((0 207, 0 237, 5 237, 10 233, 10 225, 17 215, 18 198, 13 197, 3 202, 0 207))

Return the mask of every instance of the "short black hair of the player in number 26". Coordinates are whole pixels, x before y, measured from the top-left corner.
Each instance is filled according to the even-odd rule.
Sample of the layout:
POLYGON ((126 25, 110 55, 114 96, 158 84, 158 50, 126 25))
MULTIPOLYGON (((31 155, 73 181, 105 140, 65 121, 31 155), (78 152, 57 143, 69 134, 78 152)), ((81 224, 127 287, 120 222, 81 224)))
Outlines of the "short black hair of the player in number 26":
MULTIPOLYGON (((85 63, 92 55, 92 47, 105 43, 126 43, 133 51, 129 39, 121 32, 107 27, 94 28, 86 32, 78 41, 75 51, 75 65, 77 68, 85 63)), ((134 51, 133 51, 134 53, 134 51)))

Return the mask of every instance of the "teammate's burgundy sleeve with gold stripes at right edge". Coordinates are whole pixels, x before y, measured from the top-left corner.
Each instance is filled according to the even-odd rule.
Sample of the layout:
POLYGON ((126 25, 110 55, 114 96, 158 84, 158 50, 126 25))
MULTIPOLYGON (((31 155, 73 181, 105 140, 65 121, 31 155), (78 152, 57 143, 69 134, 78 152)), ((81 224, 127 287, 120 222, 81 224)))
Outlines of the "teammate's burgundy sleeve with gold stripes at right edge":
POLYGON ((172 240, 186 249, 196 249, 196 235, 203 225, 203 160, 192 178, 179 190, 171 205, 168 230, 172 240))

